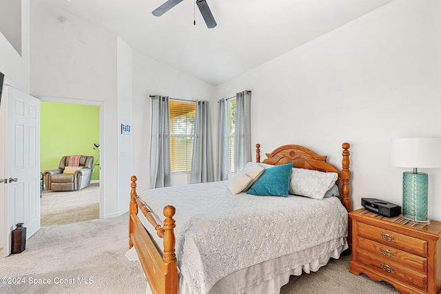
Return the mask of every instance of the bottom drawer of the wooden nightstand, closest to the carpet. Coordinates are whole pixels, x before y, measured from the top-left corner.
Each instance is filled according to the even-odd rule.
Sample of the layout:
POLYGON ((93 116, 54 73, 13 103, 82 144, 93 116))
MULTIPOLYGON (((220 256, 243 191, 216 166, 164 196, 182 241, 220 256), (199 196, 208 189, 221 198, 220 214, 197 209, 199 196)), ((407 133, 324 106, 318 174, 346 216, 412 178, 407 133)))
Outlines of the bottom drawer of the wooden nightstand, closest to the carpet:
POLYGON ((427 275, 422 275, 414 271, 403 269, 400 266, 388 264, 382 260, 365 255, 365 253, 362 252, 358 253, 358 261, 386 277, 400 280, 401 282, 414 286, 422 291, 427 291, 427 275))

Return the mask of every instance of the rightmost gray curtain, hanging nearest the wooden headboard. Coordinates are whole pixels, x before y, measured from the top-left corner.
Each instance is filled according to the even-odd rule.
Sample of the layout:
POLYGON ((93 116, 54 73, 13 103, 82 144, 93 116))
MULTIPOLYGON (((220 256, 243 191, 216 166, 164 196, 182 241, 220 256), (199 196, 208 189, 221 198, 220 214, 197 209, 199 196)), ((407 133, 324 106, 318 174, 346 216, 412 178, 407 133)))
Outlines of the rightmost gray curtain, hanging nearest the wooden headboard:
POLYGON ((236 129, 234 130, 234 172, 251 161, 251 91, 236 93, 236 129))

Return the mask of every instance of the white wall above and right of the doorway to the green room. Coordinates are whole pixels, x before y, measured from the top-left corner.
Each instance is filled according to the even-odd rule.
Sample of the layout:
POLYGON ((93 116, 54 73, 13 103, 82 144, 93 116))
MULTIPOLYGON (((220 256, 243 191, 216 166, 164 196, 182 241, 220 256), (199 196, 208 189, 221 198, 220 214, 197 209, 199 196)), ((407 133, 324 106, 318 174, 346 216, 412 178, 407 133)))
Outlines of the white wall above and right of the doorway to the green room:
POLYGON ((100 105, 100 188, 105 196, 101 217, 120 211, 115 193, 119 182, 116 45, 116 34, 45 1, 30 4, 30 94, 46 101, 100 105), (61 16, 67 23, 59 22, 61 16))

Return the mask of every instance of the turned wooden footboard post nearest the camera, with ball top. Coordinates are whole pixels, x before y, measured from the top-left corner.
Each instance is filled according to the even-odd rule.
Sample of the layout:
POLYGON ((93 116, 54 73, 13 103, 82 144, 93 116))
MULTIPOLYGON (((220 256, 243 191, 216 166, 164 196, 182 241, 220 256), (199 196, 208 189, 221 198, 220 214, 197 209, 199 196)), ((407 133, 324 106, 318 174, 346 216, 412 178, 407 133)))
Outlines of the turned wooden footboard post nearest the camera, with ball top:
POLYGON ((163 273, 167 276, 165 280, 165 293, 178 293, 178 267, 176 262, 176 254, 174 253, 175 237, 174 227, 176 227, 173 219, 176 209, 172 205, 164 207, 164 254, 163 254, 163 273), (171 282, 170 282, 171 281, 171 282))

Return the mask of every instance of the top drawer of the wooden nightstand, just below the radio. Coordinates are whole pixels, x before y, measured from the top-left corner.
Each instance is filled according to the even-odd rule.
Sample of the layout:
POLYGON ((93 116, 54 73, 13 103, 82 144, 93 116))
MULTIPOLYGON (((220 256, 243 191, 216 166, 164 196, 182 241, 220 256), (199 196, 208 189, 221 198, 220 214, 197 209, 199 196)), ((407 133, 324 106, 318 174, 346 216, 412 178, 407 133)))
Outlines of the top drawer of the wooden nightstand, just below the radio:
POLYGON ((358 235, 402 251, 427 257, 427 241, 358 222, 358 235))

